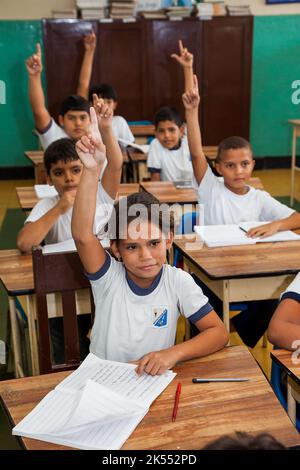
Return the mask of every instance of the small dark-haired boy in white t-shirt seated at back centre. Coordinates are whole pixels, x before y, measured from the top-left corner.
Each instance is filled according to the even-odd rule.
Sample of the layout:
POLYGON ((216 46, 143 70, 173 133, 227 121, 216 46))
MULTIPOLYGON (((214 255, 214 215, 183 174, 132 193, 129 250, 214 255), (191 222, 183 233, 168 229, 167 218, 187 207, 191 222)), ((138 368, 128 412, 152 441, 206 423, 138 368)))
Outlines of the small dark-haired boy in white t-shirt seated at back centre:
POLYGON ((151 181, 191 181, 193 168, 180 114, 174 108, 161 108, 154 124, 155 139, 147 159, 151 181))

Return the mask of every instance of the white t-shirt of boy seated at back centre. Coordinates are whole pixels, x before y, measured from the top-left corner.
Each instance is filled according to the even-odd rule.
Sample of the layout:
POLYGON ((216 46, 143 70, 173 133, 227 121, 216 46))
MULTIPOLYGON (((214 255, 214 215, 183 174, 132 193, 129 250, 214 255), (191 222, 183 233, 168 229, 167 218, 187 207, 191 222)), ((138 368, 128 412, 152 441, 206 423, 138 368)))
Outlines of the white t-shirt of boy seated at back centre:
POLYGON ((177 150, 163 147, 157 139, 153 139, 147 159, 147 166, 151 170, 158 170, 162 181, 191 180, 193 167, 187 138, 181 139, 177 150))

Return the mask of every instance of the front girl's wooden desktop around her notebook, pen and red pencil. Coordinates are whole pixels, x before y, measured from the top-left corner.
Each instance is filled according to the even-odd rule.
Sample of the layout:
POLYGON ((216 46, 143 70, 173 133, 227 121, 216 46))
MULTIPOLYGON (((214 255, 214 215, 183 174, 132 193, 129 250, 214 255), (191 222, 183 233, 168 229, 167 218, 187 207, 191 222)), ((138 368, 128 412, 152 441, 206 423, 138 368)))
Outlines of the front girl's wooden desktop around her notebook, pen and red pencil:
MULTIPOLYGON (((236 430, 269 432, 286 446, 300 444, 300 436, 275 397, 269 383, 244 346, 225 348, 174 368, 177 376, 151 405, 123 449, 200 449, 236 430), (248 377, 249 382, 193 384, 192 377, 248 377), (175 390, 182 393, 175 423, 175 390), (192 432, 191 432, 192 431, 192 432)), ((0 382, 1 400, 12 425, 24 418, 69 372, 0 382)), ((26 449, 63 446, 24 438, 26 449)))

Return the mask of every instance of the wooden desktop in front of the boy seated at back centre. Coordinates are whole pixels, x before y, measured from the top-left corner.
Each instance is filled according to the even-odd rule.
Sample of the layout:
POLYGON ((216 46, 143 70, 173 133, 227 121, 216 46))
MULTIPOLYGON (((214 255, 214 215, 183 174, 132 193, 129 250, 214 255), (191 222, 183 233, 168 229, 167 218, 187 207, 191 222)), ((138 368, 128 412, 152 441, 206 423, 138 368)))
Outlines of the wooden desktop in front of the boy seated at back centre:
POLYGON ((155 196, 160 203, 197 204, 197 191, 193 188, 177 189, 172 181, 141 182, 140 186, 155 196))

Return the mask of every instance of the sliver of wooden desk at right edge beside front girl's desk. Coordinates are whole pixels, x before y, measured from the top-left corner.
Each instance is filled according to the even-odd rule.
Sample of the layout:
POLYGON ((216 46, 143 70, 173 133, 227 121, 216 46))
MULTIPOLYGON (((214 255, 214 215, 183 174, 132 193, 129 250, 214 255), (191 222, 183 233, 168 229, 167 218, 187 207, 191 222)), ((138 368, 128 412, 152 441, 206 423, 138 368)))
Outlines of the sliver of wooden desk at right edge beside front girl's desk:
MULTIPOLYGON (((300 354, 297 359, 299 361, 300 354)), ((285 349, 274 349, 271 358, 283 368, 288 375, 287 408, 291 421, 296 424, 296 403, 300 403, 300 363, 292 360, 292 352, 285 349)))

